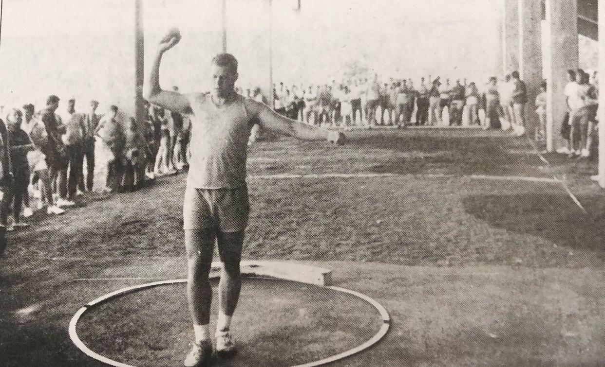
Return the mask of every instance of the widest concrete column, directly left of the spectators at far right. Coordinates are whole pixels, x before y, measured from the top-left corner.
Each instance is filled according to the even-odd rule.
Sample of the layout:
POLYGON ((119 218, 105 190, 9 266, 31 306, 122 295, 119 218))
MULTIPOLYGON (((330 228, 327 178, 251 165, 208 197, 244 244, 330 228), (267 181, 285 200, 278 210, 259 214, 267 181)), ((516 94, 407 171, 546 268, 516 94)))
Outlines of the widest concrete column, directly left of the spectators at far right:
POLYGON ((559 132, 567 110, 563 94, 567 70, 578 68, 577 1, 546 0, 546 30, 550 41, 545 55, 548 72, 546 150, 554 152, 564 144, 559 132))

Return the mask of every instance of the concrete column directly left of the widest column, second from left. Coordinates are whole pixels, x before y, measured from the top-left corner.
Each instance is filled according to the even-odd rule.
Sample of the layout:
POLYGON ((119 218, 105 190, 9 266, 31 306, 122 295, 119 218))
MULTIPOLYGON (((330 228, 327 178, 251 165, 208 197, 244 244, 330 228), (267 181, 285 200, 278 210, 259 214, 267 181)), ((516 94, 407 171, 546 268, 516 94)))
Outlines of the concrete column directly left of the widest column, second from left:
POLYGON ((526 133, 532 135, 537 126, 535 97, 542 82, 542 4, 537 0, 518 0, 519 11, 519 73, 528 88, 526 133))

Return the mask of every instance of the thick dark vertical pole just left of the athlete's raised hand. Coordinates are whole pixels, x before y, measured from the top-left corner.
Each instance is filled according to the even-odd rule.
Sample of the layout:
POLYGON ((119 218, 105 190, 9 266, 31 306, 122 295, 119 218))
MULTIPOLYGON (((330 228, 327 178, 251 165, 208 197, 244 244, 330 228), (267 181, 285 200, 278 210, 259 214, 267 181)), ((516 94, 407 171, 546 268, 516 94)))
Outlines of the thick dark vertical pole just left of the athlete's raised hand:
POLYGON ((143 102, 143 80, 145 78, 145 33, 143 32, 142 0, 134 3, 134 113, 137 126, 145 124, 145 106, 143 102))

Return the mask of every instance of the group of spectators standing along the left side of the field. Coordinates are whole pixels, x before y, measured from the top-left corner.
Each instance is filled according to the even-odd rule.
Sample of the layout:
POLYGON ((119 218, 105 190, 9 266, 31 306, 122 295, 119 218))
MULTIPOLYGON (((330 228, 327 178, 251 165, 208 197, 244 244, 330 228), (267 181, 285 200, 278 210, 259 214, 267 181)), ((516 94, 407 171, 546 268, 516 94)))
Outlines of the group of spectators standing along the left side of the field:
POLYGON ((24 219, 38 209, 63 214, 87 191, 134 191, 187 170, 188 116, 145 102, 139 126, 117 106, 106 113, 98 107, 92 100, 79 112, 73 98, 50 95, 41 110, 27 103, 0 118, 0 232, 27 227, 24 219))

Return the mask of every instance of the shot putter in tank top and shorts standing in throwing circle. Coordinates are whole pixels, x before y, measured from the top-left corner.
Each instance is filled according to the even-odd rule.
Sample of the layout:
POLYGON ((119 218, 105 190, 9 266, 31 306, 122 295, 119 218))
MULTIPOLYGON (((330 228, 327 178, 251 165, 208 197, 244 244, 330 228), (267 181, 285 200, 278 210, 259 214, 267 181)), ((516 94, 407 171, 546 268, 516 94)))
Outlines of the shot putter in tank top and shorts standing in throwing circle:
POLYGON ((187 296, 194 323, 195 343, 185 366, 208 365, 212 356, 209 319, 212 289, 208 279, 214 252, 223 263, 219 293, 216 351, 235 353, 231 318, 240 296, 240 259, 249 202, 246 158, 250 129, 262 129, 295 138, 343 144, 344 135, 278 115, 265 104, 234 91, 237 60, 221 53, 212 59, 212 89, 208 94, 164 91, 159 84, 162 55, 177 45, 180 32, 172 28, 160 41, 151 66, 146 99, 149 103, 191 117, 191 162, 183 205, 183 228, 188 256, 187 296))

